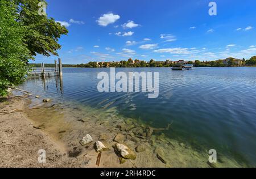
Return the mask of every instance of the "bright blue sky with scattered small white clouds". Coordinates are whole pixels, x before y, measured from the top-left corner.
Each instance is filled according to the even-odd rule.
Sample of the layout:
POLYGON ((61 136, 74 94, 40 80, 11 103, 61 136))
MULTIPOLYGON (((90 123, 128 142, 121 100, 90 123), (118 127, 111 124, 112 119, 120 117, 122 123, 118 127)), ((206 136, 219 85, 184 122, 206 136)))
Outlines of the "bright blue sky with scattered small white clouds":
MULTIPOLYGON (((47 16, 67 26, 63 63, 214 59, 256 55, 256 1, 52 0, 47 16)), ((37 56, 36 63, 57 57, 37 56)))

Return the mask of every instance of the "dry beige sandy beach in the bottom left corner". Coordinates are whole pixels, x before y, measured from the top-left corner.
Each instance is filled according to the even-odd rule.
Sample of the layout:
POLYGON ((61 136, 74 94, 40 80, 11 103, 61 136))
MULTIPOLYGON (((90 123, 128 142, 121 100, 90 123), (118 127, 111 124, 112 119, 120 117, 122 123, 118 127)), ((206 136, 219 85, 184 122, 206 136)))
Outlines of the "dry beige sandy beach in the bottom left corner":
MULTIPOLYGON (((25 110, 19 99, 0 103, 0 113, 25 110)), ((23 112, 0 116, 0 167, 82 167, 77 159, 67 157, 63 148, 47 134, 35 129, 23 112), (38 162, 38 151, 46 150, 46 163, 38 162)))

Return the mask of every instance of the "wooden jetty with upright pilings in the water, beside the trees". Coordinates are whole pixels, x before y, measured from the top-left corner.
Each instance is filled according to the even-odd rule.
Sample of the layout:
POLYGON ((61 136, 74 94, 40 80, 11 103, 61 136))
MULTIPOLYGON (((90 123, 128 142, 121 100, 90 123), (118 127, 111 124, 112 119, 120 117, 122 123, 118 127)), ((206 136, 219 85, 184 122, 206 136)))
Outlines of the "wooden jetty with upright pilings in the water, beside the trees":
POLYGON ((47 70, 44 67, 44 63, 42 63, 42 72, 41 76, 63 76, 63 68, 62 68, 62 62, 61 59, 59 58, 59 64, 57 64, 57 60, 55 59, 54 62, 54 69, 47 70))

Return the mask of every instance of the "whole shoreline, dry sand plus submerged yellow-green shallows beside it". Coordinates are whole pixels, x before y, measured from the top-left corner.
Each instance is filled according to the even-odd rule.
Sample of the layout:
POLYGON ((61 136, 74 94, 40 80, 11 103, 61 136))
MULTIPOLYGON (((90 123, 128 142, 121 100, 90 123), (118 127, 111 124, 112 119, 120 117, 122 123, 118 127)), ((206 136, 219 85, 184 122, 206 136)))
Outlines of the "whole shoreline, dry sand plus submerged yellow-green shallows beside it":
POLYGON ((31 96, 27 99, 11 100, 8 102, 10 104, 1 104, 1 112, 13 109, 22 109, 23 112, 2 115, 0 131, 3 134, 0 139, 3 144, 0 147, 2 151, 0 152, 2 160, 0 167, 207 168, 240 166, 226 156, 222 156, 222 161, 225 163, 211 165, 207 162, 207 151, 201 153, 193 150, 191 146, 167 138, 161 132, 155 134, 151 131, 148 137, 143 137, 143 130, 150 128, 144 124, 135 124, 132 119, 124 120, 122 117, 115 116, 115 109, 110 109, 107 112, 109 116, 106 116, 100 112, 98 114, 91 112, 91 108, 80 109, 73 105, 63 108, 51 102, 42 103, 42 99, 34 99, 39 102, 35 103, 32 99, 34 97, 31 96), (134 132, 141 137, 134 135, 134 132), (98 153, 94 150, 93 143, 86 146, 80 144, 80 140, 86 134, 92 135, 93 143, 102 134, 106 135, 101 142, 109 150, 102 152, 99 166, 96 165, 98 153), (142 144, 143 151, 135 152, 136 160, 126 160, 121 164, 113 148, 117 143, 113 141, 117 135, 121 135, 122 138, 118 143, 126 144, 134 152, 142 144), (38 163, 38 150, 40 149, 47 152, 45 164, 38 163))

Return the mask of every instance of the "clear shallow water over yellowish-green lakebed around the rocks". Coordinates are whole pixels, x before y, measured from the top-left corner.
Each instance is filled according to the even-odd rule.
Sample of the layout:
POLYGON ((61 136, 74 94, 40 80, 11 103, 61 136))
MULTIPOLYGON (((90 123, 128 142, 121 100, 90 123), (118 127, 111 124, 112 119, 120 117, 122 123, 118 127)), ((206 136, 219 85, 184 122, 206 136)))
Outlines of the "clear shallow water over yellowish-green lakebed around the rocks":
MULTIPOLYGON (((30 107, 35 108, 33 104, 30 107)), ((121 134, 125 137, 122 143, 131 150, 136 151, 141 144, 145 147, 144 151, 136 152, 133 165, 127 162, 120 165, 114 150, 106 151, 108 157, 101 161, 105 167, 213 167, 208 163, 207 150, 195 150, 189 144, 167 137, 165 129, 154 129, 141 121, 120 116, 114 107, 94 109, 75 103, 47 103, 39 104, 38 109, 27 110, 26 115, 35 125, 44 125, 42 130, 62 143, 65 151, 79 150, 79 156, 96 157, 93 143, 85 147, 79 144, 86 134, 90 134, 94 142, 104 134, 108 137, 105 140, 108 146, 117 144, 113 140, 121 134)), ((221 155, 220 161, 214 167, 245 167, 225 155, 221 155)))

